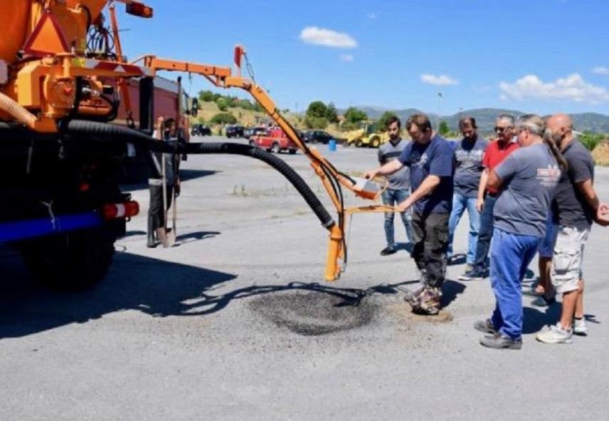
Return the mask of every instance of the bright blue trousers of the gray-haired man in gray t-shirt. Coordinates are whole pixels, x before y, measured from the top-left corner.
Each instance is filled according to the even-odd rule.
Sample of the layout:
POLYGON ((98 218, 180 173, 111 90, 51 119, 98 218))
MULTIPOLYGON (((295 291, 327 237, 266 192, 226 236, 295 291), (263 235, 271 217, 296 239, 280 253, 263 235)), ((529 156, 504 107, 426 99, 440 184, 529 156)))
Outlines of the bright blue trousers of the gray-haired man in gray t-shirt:
POLYGON ((496 331, 512 339, 522 335, 522 286, 539 237, 518 235, 495 228, 491 243, 491 286, 497 304, 491 321, 496 331))

